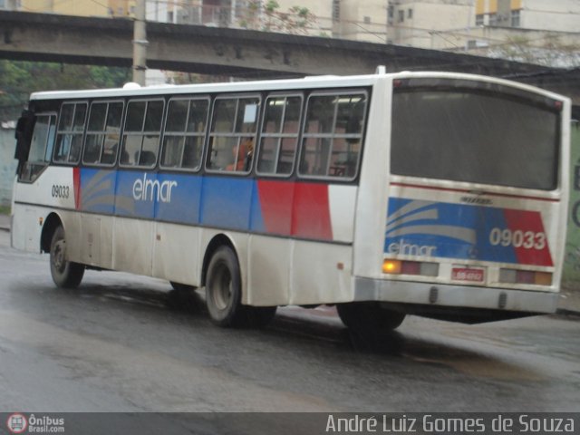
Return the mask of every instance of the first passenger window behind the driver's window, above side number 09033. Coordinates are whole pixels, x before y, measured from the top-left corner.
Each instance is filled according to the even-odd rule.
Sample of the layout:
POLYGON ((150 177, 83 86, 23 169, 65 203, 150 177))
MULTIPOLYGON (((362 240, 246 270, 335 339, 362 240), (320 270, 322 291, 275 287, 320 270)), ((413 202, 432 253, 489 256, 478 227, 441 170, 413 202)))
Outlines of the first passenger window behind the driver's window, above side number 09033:
POLYGON ((59 163, 78 163, 81 160, 82 134, 87 114, 86 102, 65 102, 56 131, 53 160, 59 163))

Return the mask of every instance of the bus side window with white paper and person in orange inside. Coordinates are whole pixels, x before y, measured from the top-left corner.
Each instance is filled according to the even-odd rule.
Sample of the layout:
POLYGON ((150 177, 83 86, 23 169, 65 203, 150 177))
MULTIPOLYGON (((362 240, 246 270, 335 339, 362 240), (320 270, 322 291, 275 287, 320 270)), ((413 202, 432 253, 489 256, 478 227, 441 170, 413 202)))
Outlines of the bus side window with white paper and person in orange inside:
POLYGON ((259 109, 258 96, 216 99, 206 169, 239 173, 250 171, 259 109))

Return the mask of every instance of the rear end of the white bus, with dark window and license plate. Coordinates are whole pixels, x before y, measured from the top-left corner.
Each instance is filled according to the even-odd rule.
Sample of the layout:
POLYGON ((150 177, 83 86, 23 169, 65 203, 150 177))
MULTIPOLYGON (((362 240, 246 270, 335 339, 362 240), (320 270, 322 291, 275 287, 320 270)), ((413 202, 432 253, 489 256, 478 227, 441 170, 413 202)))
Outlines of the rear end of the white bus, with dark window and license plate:
MULTIPOLYGON (((372 247, 382 263, 357 255, 363 247, 369 252, 373 227, 362 198, 359 302, 339 306, 343 320, 391 316, 392 326, 403 314, 419 314, 478 323, 555 312, 569 101, 461 74, 400 74, 385 93, 391 97, 384 109, 390 144, 382 144, 387 175, 379 208, 385 212, 372 247)), ((363 171, 379 169, 365 163, 363 171)), ((371 178, 362 174, 361 189, 371 178)))

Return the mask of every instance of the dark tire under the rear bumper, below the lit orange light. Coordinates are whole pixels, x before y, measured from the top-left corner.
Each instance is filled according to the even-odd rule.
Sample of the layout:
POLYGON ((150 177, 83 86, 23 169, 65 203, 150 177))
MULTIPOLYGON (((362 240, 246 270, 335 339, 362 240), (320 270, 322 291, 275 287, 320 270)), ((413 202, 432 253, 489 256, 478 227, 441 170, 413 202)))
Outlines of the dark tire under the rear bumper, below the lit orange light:
POLYGON ((358 333, 386 333, 397 329, 405 319, 404 313, 374 302, 336 304, 336 311, 343 324, 358 333))

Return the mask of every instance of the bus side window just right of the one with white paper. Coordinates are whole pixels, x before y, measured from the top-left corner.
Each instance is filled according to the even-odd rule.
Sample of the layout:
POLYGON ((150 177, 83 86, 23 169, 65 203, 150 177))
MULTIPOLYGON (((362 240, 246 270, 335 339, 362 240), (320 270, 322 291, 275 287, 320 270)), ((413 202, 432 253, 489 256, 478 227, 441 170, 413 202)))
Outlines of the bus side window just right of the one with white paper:
POLYGON ((302 96, 272 96, 266 100, 257 172, 263 175, 290 175, 294 169, 302 96))

